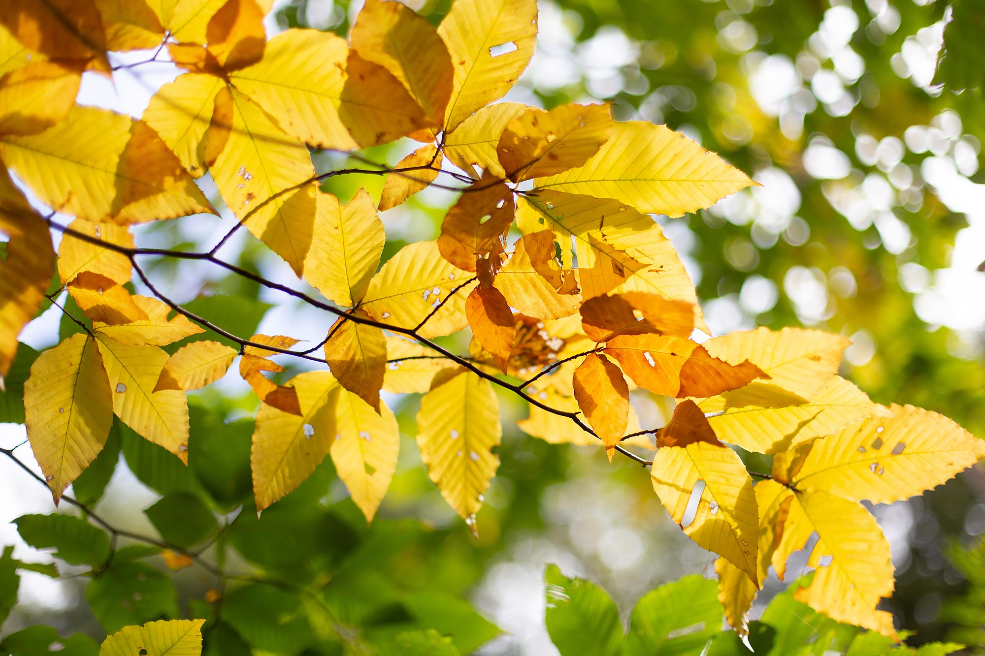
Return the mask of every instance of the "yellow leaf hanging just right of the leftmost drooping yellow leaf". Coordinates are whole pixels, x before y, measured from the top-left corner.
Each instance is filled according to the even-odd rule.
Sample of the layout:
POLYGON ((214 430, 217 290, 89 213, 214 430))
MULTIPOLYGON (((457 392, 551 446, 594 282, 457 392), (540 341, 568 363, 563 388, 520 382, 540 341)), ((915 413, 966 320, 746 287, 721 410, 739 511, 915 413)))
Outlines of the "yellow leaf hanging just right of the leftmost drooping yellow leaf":
POLYGON ((177 390, 155 392, 167 361, 156 346, 127 346, 96 331, 102 362, 109 376, 113 413, 124 424, 188 464, 188 401, 177 390))

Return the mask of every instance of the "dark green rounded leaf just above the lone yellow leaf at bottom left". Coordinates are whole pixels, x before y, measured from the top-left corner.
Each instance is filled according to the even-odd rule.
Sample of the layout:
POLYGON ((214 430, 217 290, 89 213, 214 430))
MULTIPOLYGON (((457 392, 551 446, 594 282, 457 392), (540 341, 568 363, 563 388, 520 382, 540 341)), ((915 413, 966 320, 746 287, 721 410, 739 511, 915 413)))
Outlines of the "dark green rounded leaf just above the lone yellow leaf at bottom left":
POLYGON ((115 560, 86 588, 93 615, 107 633, 129 624, 178 617, 178 595, 164 573, 144 562, 115 560))

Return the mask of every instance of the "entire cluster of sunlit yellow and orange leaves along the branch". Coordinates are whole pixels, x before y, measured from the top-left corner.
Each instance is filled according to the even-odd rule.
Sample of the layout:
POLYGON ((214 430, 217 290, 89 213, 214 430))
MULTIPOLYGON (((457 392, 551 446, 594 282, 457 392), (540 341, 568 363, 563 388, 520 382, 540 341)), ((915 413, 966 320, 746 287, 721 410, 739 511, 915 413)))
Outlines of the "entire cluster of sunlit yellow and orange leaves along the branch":
MULTIPOLYGON (((498 466, 499 384, 529 401, 519 426, 531 435, 601 440, 610 459, 623 443, 656 448, 654 490, 721 556, 723 602, 740 630, 769 565, 783 578, 786 558, 817 532, 819 571, 798 598, 894 635, 876 609, 892 590, 888 548, 858 501, 943 483, 985 448, 946 418, 879 406, 840 378, 841 337, 694 339, 707 332, 694 287, 649 215, 681 216, 755 183, 666 126, 614 121, 605 104, 495 102, 533 54, 534 0, 456 0, 437 28, 402 3, 366 0, 348 39, 288 30, 268 40, 269 10, 269 0, 0 5, 0 374, 56 267, 92 321, 44 352, 25 386, 55 500, 99 453, 113 414, 187 462, 185 394, 238 356, 260 405, 258 511, 330 454, 371 519, 400 443, 381 390, 419 393, 428 476, 475 531, 498 466), (75 104, 84 72, 110 73, 108 51, 159 46, 184 72, 140 120, 75 104), (378 202, 361 190, 343 204, 320 189, 310 149, 403 137, 422 145, 378 202), (57 259, 8 169, 75 216, 57 259), (235 219, 334 303, 327 370, 271 379, 284 370, 274 358, 296 353, 286 335, 254 335, 238 351, 208 340, 162 349, 203 331, 180 308, 130 293, 129 226, 215 214, 196 184, 206 172, 235 219), (380 266, 378 212, 441 173, 468 186, 439 236, 380 266), (428 341, 465 328, 468 358, 428 341), (666 426, 639 429, 636 389, 676 400, 666 426), (772 478, 754 486, 730 445, 773 455, 772 478)), ((128 635, 119 641, 137 639, 128 635)))

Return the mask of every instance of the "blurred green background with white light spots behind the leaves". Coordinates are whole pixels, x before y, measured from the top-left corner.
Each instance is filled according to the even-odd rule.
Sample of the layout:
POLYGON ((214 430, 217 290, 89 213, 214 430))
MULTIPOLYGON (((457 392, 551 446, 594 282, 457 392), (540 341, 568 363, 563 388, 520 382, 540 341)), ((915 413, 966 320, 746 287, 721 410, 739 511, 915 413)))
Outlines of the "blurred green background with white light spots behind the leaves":
MULTIPOLYGON (((450 3, 407 4, 436 22, 450 3)), ((360 5, 279 1, 268 35, 289 27, 345 35, 360 5)), ((612 102, 617 119, 667 123, 762 185, 683 219, 657 218, 688 265, 714 334, 756 325, 841 333, 853 342, 843 373, 874 400, 941 412, 985 435, 985 273, 976 271, 985 260, 980 1, 542 0, 539 7, 537 52, 506 99, 545 107, 612 102), (946 31, 948 51, 939 67, 946 31)), ((147 58, 147 52, 128 53, 114 63, 147 58)), ((87 74, 79 101, 139 117, 177 73, 156 63, 118 71, 112 83, 87 74)), ((411 150, 411 143, 398 142, 365 156, 395 164, 411 150)), ((344 155, 315 155, 319 172, 345 162, 344 155)), ((209 178, 203 182, 208 189, 209 178)), ((361 186, 378 197, 381 184, 375 176, 347 176, 331 178, 325 188, 346 201, 361 186)), ((220 207, 214 191, 210 199, 220 207)), ((428 189, 381 215, 384 258, 407 241, 436 235, 453 202, 453 194, 428 189)), ((224 210, 222 222, 192 218, 138 227, 137 242, 208 247, 233 221, 224 210)), ((223 255, 270 279, 303 285, 245 230, 223 255)), ((161 261, 151 275, 180 301, 203 293, 243 296, 230 307, 193 301, 225 317, 237 334, 290 334, 316 344, 328 328, 323 314, 205 264, 161 261)), ((71 330, 66 323, 50 309, 22 340, 47 348, 71 330)), ((230 432, 236 444, 248 443, 249 422, 234 422, 255 410, 248 387, 232 371, 214 387, 191 395, 193 439, 196 432, 230 432)), ((646 394, 634 402, 644 426, 668 410, 646 394)), ((334 553, 349 533, 374 541, 378 569, 367 567, 353 590, 376 601, 392 589, 424 585, 464 596, 506 631, 482 648, 488 655, 556 653, 543 620, 545 562, 600 582, 624 612, 659 583, 710 572, 712 557, 670 520, 645 472, 619 459, 608 464, 600 449, 524 435, 515 423, 525 408, 507 396, 500 403, 502 465, 479 516, 478 541, 427 481, 406 435, 397 476, 368 534, 353 522, 334 533, 323 527, 310 544, 278 543, 261 535, 263 520, 250 520, 238 535, 230 531, 230 541, 268 558, 270 567, 279 566, 278 558, 334 553)), ((417 407, 410 395, 394 408, 410 434, 417 407)), ((199 484, 187 471, 164 467, 164 478, 149 473, 154 454, 138 453, 132 437, 114 437, 119 442, 107 457, 119 457, 119 443, 124 457, 97 508, 117 525, 153 534, 143 509, 164 492, 199 484)), ((0 425, 0 446, 24 438, 23 426, 0 425)), ((33 464, 30 447, 17 454, 33 464)), ((298 509, 303 501, 323 497, 344 506, 345 496, 326 462, 295 499, 265 513, 265 530, 309 528, 298 509)), ((0 460, 0 543, 17 544, 18 558, 43 560, 8 522, 50 510, 48 492, 0 460)), ((985 532, 985 470, 873 510, 892 545, 897 584, 886 608, 900 626, 916 631, 917 644, 949 637, 985 644, 985 552, 969 551, 985 532)), ((233 510, 230 520, 235 516, 233 510)), ((244 571, 250 566, 243 560, 244 571)), ((5 632, 44 622, 99 634, 84 580, 27 572, 23 581, 21 606, 5 632)), ((195 568, 178 572, 176 582, 183 603, 201 599, 213 585, 195 568)), ((767 593, 778 586, 770 584, 767 593)), ((352 605, 358 616, 359 603, 352 605)))

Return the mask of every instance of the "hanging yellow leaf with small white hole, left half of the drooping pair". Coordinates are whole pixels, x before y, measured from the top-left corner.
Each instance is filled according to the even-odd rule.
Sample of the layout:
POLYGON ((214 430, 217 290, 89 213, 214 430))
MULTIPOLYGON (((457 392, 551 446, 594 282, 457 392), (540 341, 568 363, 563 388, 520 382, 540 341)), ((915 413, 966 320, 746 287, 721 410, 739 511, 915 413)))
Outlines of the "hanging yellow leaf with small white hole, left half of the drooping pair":
POLYGON ((257 511, 294 491, 328 455, 337 434, 335 403, 340 387, 328 371, 308 371, 291 379, 300 415, 266 404, 253 430, 250 463, 257 511))

